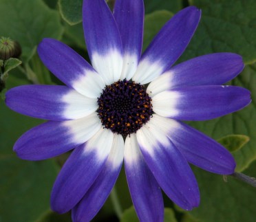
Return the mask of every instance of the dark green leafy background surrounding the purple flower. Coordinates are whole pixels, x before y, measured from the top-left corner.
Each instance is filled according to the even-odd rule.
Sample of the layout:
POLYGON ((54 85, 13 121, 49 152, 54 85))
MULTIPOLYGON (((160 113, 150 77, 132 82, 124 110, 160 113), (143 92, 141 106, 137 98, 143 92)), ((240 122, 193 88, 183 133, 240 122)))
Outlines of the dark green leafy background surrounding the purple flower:
MULTIPOLYGON (((109 0, 112 6, 114 1, 109 0)), ((26 84, 62 84, 43 66, 36 45, 44 37, 70 45, 87 60, 81 25, 82 0, 0 0, 0 36, 21 44, 22 65, 10 71, 6 88, 26 84)), ((202 9, 202 19, 189 47, 178 63, 213 52, 241 54, 246 67, 239 77, 228 82, 250 89, 253 102, 246 109, 192 126, 220 140, 233 151, 238 172, 256 177, 256 1, 255 0, 145 0, 147 47, 160 27, 173 13, 188 6, 202 9), (230 136, 235 135, 235 136, 230 136), (236 135, 247 135, 237 137, 236 135)), ((50 191, 67 155, 41 162, 19 159, 12 151, 14 142, 32 126, 43 122, 10 111, 0 99, 0 221, 71 221, 70 214, 50 210, 50 191)), ((255 221, 256 190, 228 177, 213 175, 193 167, 201 192, 200 207, 184 212, 164 197, 165 221, 255 221)), ((120 221, 138 221, 127 189, 124 170, 116 184, 122 209, 120 221)), ((118 221, 109 198, 94 221, 118 221)))

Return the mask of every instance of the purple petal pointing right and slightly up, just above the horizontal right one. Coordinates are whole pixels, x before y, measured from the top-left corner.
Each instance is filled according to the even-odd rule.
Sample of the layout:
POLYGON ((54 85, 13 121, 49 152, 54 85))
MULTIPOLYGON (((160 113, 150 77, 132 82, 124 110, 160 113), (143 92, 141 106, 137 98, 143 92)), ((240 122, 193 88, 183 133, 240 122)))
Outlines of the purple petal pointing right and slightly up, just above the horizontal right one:
POLYGON ((192 58, 175 65, 153 80, 147 91, 150 96, 177 87, 222 85, 244 69, 242 57, 233 53, 215 53, 192 58))

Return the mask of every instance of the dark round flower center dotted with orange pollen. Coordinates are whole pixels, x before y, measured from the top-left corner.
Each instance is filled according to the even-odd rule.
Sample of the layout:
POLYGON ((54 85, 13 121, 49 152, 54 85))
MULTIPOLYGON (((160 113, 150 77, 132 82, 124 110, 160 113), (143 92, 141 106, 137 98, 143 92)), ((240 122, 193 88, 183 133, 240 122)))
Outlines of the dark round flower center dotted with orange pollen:
POLYGON ((107 85, 98 98, 98 116, 113 133, 135 133, 153 114, 151 98, 145 88, 131 80, 107 85))

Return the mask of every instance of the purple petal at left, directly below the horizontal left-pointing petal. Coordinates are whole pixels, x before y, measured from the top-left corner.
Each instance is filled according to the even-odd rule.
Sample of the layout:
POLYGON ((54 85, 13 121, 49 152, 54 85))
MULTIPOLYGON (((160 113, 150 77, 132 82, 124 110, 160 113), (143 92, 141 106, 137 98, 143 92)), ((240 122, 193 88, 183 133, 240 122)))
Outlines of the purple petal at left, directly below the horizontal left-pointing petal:
POLYGON ((14 144, 14 151, 21 159, 55 157, 89 140, 100 126, 96 113, 78 120, 45 122, 24 133, 14 144))

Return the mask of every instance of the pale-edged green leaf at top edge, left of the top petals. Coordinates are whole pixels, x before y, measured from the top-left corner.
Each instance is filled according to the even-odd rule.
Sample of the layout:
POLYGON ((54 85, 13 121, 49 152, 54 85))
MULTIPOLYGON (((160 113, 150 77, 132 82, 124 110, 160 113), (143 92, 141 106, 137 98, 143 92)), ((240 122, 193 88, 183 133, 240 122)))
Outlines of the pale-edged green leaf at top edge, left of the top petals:
POLYGON ((70 25, 82 21, 83 0, 58 0, 58 8, 62 18, 70 25))

